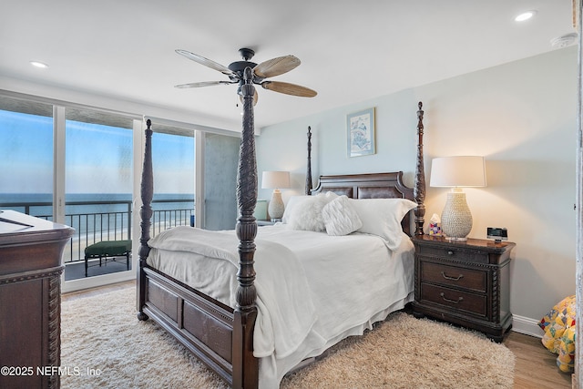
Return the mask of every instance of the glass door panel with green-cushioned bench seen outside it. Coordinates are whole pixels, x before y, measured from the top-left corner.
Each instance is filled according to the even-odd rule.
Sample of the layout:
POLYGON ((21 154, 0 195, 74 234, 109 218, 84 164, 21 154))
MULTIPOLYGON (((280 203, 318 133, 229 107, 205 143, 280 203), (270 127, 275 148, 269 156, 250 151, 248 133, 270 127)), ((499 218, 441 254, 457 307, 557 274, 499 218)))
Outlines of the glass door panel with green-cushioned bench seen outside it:
POLYGON ((133 120, 87 108, 65 113, 65 223, 76 230, 65 281, 129 271, 133 120), (113 249, 120 241, 128 250, 113 249))

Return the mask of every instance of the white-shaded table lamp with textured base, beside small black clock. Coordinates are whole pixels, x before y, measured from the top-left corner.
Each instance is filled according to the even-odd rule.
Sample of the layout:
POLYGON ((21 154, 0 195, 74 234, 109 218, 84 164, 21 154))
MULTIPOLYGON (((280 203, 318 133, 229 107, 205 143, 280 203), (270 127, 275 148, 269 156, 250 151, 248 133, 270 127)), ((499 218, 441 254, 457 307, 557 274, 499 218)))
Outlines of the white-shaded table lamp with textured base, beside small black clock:
POLYGON ((456 156, 433 159, 431 187, 452 188, 441 214, 441 229, 450 241, 467 241, 472 230, 472 213, 465 201, 464 187, 486 187, 484 157, 456 156))

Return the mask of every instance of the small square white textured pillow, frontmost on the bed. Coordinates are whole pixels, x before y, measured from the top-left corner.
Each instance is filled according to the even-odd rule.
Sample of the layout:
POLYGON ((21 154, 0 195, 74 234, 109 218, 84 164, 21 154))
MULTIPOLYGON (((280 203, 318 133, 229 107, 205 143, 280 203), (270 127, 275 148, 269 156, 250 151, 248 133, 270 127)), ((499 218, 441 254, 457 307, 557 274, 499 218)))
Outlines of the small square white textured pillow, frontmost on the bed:
POLYGON ((363 221, 350 204, 348 197, 339 196, 322 208, 322 220, 328 235, 348 235, 363 227, 363 221))

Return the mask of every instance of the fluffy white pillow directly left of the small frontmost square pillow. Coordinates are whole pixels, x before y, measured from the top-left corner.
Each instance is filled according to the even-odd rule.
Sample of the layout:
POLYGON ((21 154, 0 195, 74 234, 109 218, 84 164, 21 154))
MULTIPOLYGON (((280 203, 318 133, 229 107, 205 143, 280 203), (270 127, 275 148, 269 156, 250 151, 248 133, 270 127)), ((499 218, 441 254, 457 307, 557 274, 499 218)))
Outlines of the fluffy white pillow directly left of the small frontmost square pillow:
POLYGON ((292 230, 310 230, 321 232, 326 230, 322 220, 322 208, 338 197, 335 193, 326 192, 316 196, 292 196, 288 207, 283 212, 283 222, 292 230))

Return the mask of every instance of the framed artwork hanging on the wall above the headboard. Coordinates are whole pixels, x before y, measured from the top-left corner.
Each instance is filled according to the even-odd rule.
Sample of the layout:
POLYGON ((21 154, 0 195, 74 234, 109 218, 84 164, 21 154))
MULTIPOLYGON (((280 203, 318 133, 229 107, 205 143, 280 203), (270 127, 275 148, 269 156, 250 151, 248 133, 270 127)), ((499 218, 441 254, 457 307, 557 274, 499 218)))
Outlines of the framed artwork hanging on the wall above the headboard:
POLYGON ((346 116, 348 157, 374 154, 374 108, 346 116))

